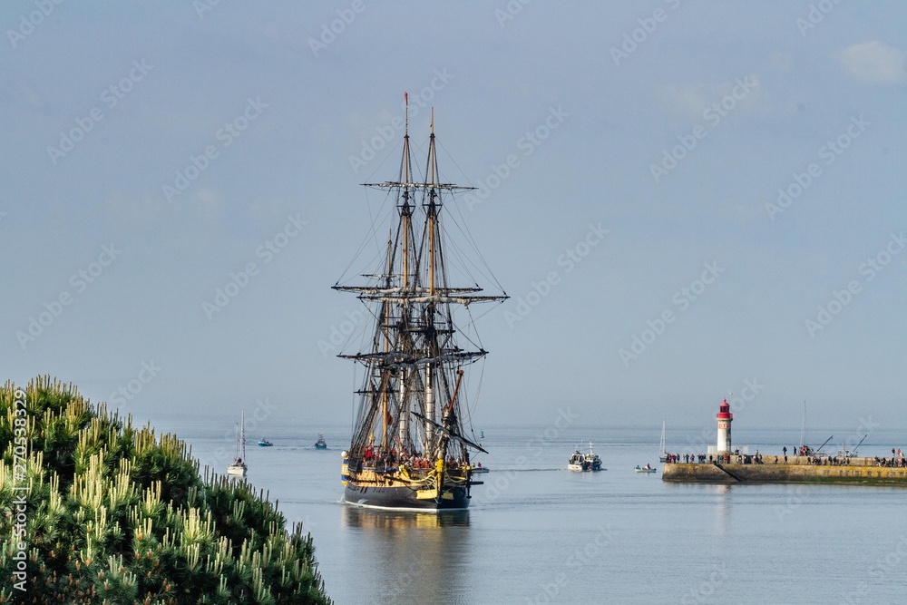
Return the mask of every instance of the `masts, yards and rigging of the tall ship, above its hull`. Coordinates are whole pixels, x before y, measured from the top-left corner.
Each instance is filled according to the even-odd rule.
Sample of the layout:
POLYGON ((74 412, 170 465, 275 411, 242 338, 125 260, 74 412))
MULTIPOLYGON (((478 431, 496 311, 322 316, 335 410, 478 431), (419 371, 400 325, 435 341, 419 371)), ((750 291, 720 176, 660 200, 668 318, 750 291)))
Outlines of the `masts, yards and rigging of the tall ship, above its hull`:
MULTIPOLYGON (((419 498, 442 497, 444 469, 451 465, 469 484, 469 448, 482 449, 466 436, 461 414, 463 366, 482 358, 482 346, 461 347, 454 324, 455 307, 502 301, 505 294, 486 295, 478 285, 448 283, 444 256, 445 197, 472 187, 441 182, 434 135, 434 110, 424 180, 412 171, 406 108, 403 157, 397 181, 365 183, 395 196, 397 221, 387 241, 385 273, 373 274, 366 286, 335 289, 355 292, 373 308, 371 346, 342 354, 366 367, 359 414, 348 451, 349 467, 372 464, 385 472, 398 469, 424 476, 419 498), (377 460, 375 460, 377 458, 377 460), (422 473, 414 469, 427 468, 422 473), (465 469, 465 471, 463 471, 465 469)), ((472 343, 471 343, 472 344, 472 343)), ((407 474, 409 474, 407 473, 407 474)))

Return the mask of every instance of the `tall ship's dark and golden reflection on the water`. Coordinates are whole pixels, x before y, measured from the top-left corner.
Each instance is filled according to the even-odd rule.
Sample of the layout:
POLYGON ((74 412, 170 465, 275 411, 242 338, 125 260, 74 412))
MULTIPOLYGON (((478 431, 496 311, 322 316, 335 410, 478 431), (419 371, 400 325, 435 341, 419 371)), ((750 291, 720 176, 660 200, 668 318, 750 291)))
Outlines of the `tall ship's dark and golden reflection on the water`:
POLYGON ((340 523, 346 532, 358 535, 346 542, 349 561, 371 561, 369 569, 381 570, 351 579, 375 599, 357 602, 483 602, 474 592, 468 510, 438 514, 344 506, 340 523))

